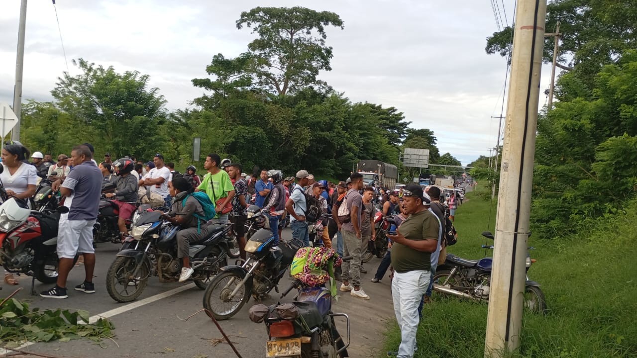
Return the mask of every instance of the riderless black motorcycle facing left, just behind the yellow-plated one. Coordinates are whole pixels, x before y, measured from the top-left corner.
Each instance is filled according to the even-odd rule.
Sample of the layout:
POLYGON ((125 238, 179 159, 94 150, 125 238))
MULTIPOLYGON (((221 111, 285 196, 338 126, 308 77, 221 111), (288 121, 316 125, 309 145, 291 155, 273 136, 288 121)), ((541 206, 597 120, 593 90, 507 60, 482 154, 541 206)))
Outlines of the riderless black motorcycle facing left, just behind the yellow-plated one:
POLYGON ((303 243, 294 240, 290 243, 279 240, 277 246, 273 245, 268 212, 259 206, 248 208, 246 226, 245 252, 249 255, 248 259, 241 266, 220 268, 220 273, 210 282, 203 296, 203 306, 208 310, 206 313, 217 320, 233 317, 250 296, 261 301, 272 289, 278 292, 279 280, 292 263, 296 251, 303 246, 303 243))

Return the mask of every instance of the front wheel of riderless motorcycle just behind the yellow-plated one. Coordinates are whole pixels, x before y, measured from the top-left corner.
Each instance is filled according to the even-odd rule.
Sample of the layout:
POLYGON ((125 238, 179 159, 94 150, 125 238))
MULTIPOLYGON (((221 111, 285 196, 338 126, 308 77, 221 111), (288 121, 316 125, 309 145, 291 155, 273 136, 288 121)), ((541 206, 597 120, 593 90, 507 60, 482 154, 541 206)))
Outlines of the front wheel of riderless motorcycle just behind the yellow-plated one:
POLYGON ((215 276, 203 294, 203 307, 206 309, 206 315, 212 314, 216 320, 226 320, 236 315, 247 301, 246 298, 252 294, 252 292, 248 292, 245 285, 241 284, 241 280, 243 278, 233 272, 224 272, 215 276), (228 297, 239 284, 241 287, 236 295, 232 298, 228 297))

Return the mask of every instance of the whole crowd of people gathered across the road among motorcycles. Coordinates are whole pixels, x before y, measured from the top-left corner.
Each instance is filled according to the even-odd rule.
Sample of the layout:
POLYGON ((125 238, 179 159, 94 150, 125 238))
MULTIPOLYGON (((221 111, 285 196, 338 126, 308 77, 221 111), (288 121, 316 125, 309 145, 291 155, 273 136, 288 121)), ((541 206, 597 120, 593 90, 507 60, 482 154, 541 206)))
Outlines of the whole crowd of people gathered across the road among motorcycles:
MULTIPOLYGON (((320 207, 322 213, 331 214, 338 228, 334 237, 322 231, 326 247, 333 247, 340 255, 352 256, 343 262, 340 290, 360 299, 370 299, 362 288, 362 255, 370 240, 375 240, 374 218, 376 207, 383 215, 394 216, 396 227, 387 232, 389 250, 383 257, 371 282, 380 282, 392 266, 392 298, 394 311, 401 329, 401 344, 397 357, 412 357, 415 352, 415 337, 422 304, 431 296, 432 278, 440 254, 445 217, 454 219, 459 200, 455 195, 443 206, 441 192, 429 187, 424 192, 420 185, 406 185, 399 191, 365 186, 363 177, 353 173, 347 180, 331 183, 315 181, 306 170, 294 176, 283 177, 280 170, 262 170, 259 175, 245 175, 241 164, 221 159, 210 154, 204 162, 206 174, 200 178, 196 168, 189 166, 186 173, 175 171, 173 163, 164 163, 164 157, 156 154, 152 162, 143 163, 134 157, 111 161, 110 154, 97 164, 94 149, 89 143, 71 150, 71 156, 57 156, 52 161, 50 154, 34 152, 29 163, 29 150, 19 144, 6 145, 2 150, 4 171, 0 175, 9 196, 32 197, 36 191, 38 176, 52 182, 52 189, 59 190, 62 203, 69 208, 61 214, 57 254, 60 259, 57 283, 41 292, 43 297, 66 298, 67 277, 74 266, 75 257, 83 257, 85 279, 75 290, 93 293, 93 270, 95 267, 92 227, 97 218, 97 209, 105 183, 113 184, 113 192, 106 194, 120 206, 120 231, 127 235, 125 220, 129 219, 138 203, 140 189, 161 197, 166 213, 164 218, 179 224, 177 234, 178 258, 182 260, 180 282, 190 278, 188 248, 202 240, 211 224, 229 223, 240 246, 240 255, 245 259, 245 221, 250 204, 269 211, 270 228, 274 243, 278 243, 281 230, 289 214, 292 240, 303 246, 310 245, 308 220, 310 204, 320 207), (31 165, 30 165, 31 164, 31 165), (204 192, 215 203, 215 217, 201 222, 197 213, 201 204, 192 192, 204 192), (185 199, 185 200, 184 200, 185 199), (311 202, 311 203, 310 203, 311 202), (447 211, 448 208, 448 211, 447 211), (419 307, 420 306, 420 307, 419 307)), ((444 197, 442 198, 444 201, 444 197)), ((327 225, 327 222, 325 223, 327 225)), ((15 285, 17 280, 5 273, 4 282, 15 285)))

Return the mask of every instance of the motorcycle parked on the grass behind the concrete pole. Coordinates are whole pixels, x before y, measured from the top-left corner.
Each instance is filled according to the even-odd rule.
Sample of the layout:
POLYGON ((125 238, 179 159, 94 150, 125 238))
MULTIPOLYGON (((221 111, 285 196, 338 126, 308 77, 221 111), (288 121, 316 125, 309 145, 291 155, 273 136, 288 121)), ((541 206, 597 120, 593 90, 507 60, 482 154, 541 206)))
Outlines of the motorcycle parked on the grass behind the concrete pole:
MULTIPOLYGON (((494 239, 493 234, 488 231, 484 231, 482 236, 494 239)), ((482 247, 493 248, 493 245, 482 245, 482 247)), ((534 247, 529 247, 528 250, 534 250, 534 247)), ((531 259, 531 255, 527 252, 527 273, 534 262, 536 260, 531 259)), ((433 277, 433 290, 443 295, 488 302, 492 263, 492 257, 467 260, 453 254, 447 254, 447 261, 436 268, 436 275, 433 277)), ((547 310, 546 299, 540 289, 540 283, 529 280, 528 275, 524 290, 524 306, 529 311, 537 313, 543 313, 547 310)))

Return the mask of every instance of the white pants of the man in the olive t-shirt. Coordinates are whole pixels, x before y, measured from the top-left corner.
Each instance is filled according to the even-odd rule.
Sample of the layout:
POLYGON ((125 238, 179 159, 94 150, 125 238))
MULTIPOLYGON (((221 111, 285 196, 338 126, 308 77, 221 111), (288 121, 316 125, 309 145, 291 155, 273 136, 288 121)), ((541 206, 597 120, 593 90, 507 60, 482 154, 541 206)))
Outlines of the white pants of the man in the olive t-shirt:
POLYGON ((394 313, 401 333, 396 358, 413 357, 419 324, 418 306, 430 280, 431 273, 425 270, 394 272, 392 299, 394 299, 394 313))

